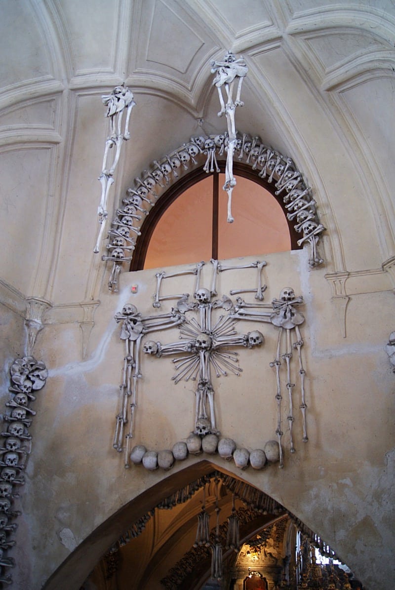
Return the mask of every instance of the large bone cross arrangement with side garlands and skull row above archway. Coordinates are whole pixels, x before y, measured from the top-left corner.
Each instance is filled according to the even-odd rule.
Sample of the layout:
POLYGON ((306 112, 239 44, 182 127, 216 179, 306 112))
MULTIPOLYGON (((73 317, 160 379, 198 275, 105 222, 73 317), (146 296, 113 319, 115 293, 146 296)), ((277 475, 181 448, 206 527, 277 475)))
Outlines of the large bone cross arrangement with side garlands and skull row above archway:
POLYGON ((299 307, 303 298, 296 296, 291 287, 282 289, 279 299, 263 303, 266 284, 263 283, 265 261, 256 261, 239 266, 226 266, 217 260, 211 260, 212 278, 210 286, 201 284, 201 270, 205 263, 198 263, 187 270, 156 273, 156 292, 153 307, 158 313, 142 316, 132 304, 126 304, 115 316, 121 323, 120 339, 125 343, 122 382, 120 384, 120 409, 116 417, 113 447, 125 451, 125 467, 132 463, 143 463, 148 470, 162 467, 171 468, 174 460, 185 459, 190 454, 208 454, 218 452, 221 457, 233 459, 236 466, 252 466, 260 469, 266 461, 279 462, 283 467, 283 424, 285 408, 288 412, 289 450, 295 452, 293 442, 293 423, 295 421, 294 389, 298 390, 298 404, 302 420, 303 442, 308 441, 306 431, 305 401, 305 367, 302 359, 303 339, 300 326, 305 321, 299 307), (226 271, 238 271, 242 268, 256 268, 256 285, 243 289, 232 289, 230 295, 239 295, 232 300, 227 295, 217 299, 217 277, 226 271), (162 295, 164 281, 173 277, 194 276, 193 300, 190 294, 162 295), (240 295, 253 296, 247 302, 240 295), (174 300, 175 306, 168 313, 159 313, 162 304, 174 300), (218 315, 219 314, 219 315, 218 315), (237 331, 237 324, 243 321, 256 322, 260 330, 264 324, 278 331, 275 358, 270 363, 275 381, 275 406, 277 414, 276 440, 269 440, 264 449, 247 451, 237 448, 230 438, 221 438, 216 420, 215 391, 213 376, 227 376, 228 373, 239 376, 243 369, 239 366, 239 350, 259 349, 265 344, 265 337, 260 330, 247 333, 237 331), (161 332, 169 328, 179 330, 175 342, 162 344, 160 340, 145 339, 151 332, 161 332), (142 444, 135 445, 130 451, 135 437, 135 419, 138 399, 138 382, 143 377, 142 354, 159 359, 172 358, 175 373, 172 380, 196 382, 194 423, 187 442, 176 442, 172 451, 148 451, 142 444), (296 368, 295 368, 296 366, 296 368), (299 375, 295 379, 295 373, 299 375), (295 381, 295 382, 293 382, 295 381), (283 397, 286 396, 285 402, 283 397))

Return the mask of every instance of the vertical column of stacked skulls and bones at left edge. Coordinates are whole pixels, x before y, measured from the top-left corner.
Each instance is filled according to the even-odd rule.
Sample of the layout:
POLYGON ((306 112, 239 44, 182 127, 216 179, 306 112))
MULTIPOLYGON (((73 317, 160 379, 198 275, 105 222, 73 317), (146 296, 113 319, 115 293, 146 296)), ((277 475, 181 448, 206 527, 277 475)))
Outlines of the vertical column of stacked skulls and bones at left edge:
MULTIPOLYGON (((3 555, 4 551, 15 545, 9 535, 17 529, 16 523, 9 522, 20 512, 11 510, 12 501, 19 497, 15 486, 23 486, 25 479, 21 472, 25 469, 27 455, 30 453, 31 441, 28 428, 36 412, 30 408, 30 402, 35 401, 34 393, 43 389, 48 377, 47 368, 41 360, 32 356, 15 359, 10 368, 11 386, 9 392, 12 397, 6 402, 11 408, 9 414, 3 414, 5 431, 0 446, 0 566, 14 567, 15 561, 3 555), (28 418, 30 416, 30 418, 28 418)), ((12 584, 10 575, 1 575, 0 582, 12 584)))

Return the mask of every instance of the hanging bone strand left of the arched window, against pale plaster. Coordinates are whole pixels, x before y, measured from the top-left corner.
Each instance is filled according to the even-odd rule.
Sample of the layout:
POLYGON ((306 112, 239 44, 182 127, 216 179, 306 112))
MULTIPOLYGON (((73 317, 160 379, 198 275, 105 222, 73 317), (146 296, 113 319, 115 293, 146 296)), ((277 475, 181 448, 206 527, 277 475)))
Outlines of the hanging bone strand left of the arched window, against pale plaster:
POLYGON ((102 185, 102 196, 100 197, 99 208, 97 214, 99 215, 99 234, 97 235, 96 245, 94 247, 94 253, 99 252, 100 242, 102 241, 103 234, 105 231, 106 219, 108 216, 107 202, 110 188, 114 182, 113 173, 115 172, 120 150, 122 148, 123 140, 130 139, 129 133, 129 119, 130 113, 132 112, 135 101, 133 99, 133 93, 129 88, 125 88, 125 85, 116 86, 111 94, 103 94, 103 103, 107 106, 106 116, 110 119, 110 135, 106 139, 105 153, 103 156, 102 172, 99 176, 100 184, 102 185), (126 116, 124 117, 124 114, 126 116), (123 126, 123 129, 122 129, 123 126), (112 160, 109 158, 110 149, 115 154, 112 160))

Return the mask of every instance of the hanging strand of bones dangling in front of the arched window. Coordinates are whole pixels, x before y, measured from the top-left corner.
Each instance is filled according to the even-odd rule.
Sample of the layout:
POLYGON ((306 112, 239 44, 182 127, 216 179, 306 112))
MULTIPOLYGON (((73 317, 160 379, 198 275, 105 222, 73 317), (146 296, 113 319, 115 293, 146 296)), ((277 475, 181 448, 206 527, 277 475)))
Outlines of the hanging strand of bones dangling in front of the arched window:
MULTIPOLYGON (((240 100, 241 84, 243 78, 246 76, 248 71, 246 62, 243 57, 239 59, 236 55, 228 51, 225 54, 223 61, 211 61, 211 73, 215 74, 213 85, 218 89, 218 97, 220 99, 221 110, 218 116, 221 117, 224 113, 226 115, 227 130, 228 130, 228 145, 227 145, 227 156, 226 156, 226 168, 225 168, 225 184, 223 186, 224 191, 228 195, 228 206, 227 206, 227 221, 228 223, 233 222, 231 214, 231 197, 234 186, 236 186, 236 178, 233 175, 233 154, 236 149, 236 124, 234 122, 234 112, 238 105, 243 106, 243 102, 240 100), (233 101, 233 87, 234 82, 237 78, 237 91, 236 99, 233 101), (226 103, 224 101, 223 91, 226 92, 226 103)), ((208 162, 208 159, 207 159, 208 162)), ((206 165, 207 166, 207 165, 206 165)))

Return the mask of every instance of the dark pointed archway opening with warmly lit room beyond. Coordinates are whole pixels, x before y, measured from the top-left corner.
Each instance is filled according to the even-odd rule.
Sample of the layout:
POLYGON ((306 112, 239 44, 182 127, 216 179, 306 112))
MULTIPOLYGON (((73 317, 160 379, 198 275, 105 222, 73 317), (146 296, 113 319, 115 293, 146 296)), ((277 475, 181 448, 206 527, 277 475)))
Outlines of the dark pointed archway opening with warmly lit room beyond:
MULTIPOLYGON (((302 575, 300 571, 296 579, 298 555, 292 549, 298 531, 305 539, 303 575, 308 575, 315 565, 308 558, 311 543, 319 546, 319 537, 267 494, 201 461, 160 481, 110 517, 58 568, 45 590, 213 588, 216 543, 223 560, 220 587, 242 587, 255 571, 269 588, 285 580, 287 588, 296 589, 302 575), (207 542, 198 533, 203 510, 208 515, 207 542), (228 538, 232 515, 239 521, 237 547, 228 538)), ((341 583, 339 588, 345 579, 341 583)))

